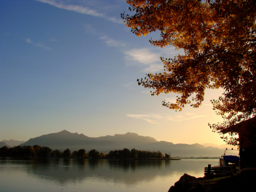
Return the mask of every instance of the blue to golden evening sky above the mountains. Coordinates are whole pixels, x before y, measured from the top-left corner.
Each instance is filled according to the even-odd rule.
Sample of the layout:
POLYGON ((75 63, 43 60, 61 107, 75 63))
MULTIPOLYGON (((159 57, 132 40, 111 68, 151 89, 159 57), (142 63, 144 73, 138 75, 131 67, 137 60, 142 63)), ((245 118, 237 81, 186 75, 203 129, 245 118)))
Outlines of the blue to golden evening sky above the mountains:
POLYGON ((221 121, 207 90, 200 108, 162 106, 137 79, 163 71, 159 33, 136 36, 120 13, 125 0, 0 1, 0 141, 67 130, 89 137, 136 132, 157 141, 224 144, 208 123, 221 121))

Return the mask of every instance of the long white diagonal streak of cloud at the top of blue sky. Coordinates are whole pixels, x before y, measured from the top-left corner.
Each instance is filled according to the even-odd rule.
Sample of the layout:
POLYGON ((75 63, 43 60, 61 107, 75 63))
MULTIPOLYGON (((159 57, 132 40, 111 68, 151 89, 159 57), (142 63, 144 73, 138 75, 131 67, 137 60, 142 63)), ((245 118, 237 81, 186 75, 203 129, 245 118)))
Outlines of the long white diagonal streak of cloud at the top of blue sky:
MULTIPOLYGON (((36 0, 40 1, 42 3, 51 4, 52 6, 55 6, 57 8, 61 8, 64 10, 77 12, 81 14, 91 15, 93 17, 102 17, 104 19, 110 20, 111 22, 116 23, 124 23, 121 19, 116 19, 115 17, 108 17, 104 13, 101 13, 95 9, 89 8, 88 6, 84 6, 83 4, 80 4, 77 1, 56 1, 56 0, 36 0)), ((84 2, 86 3, 86 2, 84 2)))

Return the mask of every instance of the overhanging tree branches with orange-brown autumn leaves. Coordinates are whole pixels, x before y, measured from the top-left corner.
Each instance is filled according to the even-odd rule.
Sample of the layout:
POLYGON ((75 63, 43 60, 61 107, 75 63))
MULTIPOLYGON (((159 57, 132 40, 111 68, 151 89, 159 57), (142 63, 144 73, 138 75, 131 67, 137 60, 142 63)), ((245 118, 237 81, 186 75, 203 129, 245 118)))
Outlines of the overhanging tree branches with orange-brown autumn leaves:
MULTIPOLYGON (((135 35, 160 31, 152 45, 173 45, 183 55, 161 58, 163 72, 147 74, 138 84, 153 88, 152 95, 177 93, 176 103, 163 106, 181 111, 189 104, 198 108, 205 89, 223 88, 212 100, 223 122, 214 132, 256 116, 256 1, 255 0, 127 0, 131 15, 121 17, 135 35)), ((221 136, 230 145, 234 137, 221 136)))

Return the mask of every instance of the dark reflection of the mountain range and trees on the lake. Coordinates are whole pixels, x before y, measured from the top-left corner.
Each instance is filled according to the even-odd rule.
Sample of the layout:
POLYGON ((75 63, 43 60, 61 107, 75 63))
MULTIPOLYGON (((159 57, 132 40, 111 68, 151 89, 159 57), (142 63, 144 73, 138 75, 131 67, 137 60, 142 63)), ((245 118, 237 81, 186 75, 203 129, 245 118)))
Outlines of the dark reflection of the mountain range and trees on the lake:
POLYGON ((31 177, 36 175, 46 182, 60 185, 95 179, 136 185, 140 182, 150 182, 156 177, 170 177, 177 173, 181 176, 193 170, 204 172, 204 166, 208 163, 204 165, 198 161, 38 159, 28 162, 28 166, 24 168, 31 177))

